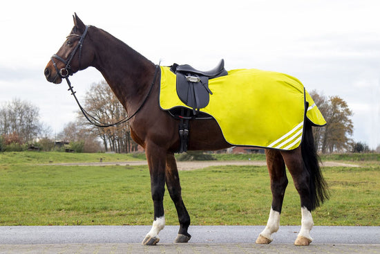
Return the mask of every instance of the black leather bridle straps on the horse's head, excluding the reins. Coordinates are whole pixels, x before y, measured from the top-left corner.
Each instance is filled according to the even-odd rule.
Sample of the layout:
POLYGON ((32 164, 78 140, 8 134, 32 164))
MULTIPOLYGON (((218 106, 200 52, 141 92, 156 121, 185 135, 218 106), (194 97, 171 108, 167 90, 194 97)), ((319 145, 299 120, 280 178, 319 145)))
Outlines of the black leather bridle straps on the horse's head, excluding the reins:
POLYGON ((75 46, 74 50, 70 53, 68 60, 64 60, 62 57, 60 57, 57 54, 54 54, 51 57, 51 61, 53 62, 53 66, 55 68, 55 71, 57 71, 57 75, 55 76, 54 80, 56 80, 58 77, 59 78, 68 78, 69 75, 73 75, 73 72, 71 71, 70 63, 73 60, 75 53, 77 53, 78 48, 79 48, 79 69, 80 69, 80 67, 81 67, 81 64, 80 64, 81 63, 81 56, 82 56, 82 46, 83 46, 84 37, 86 37, 86 34, 87 34, 87 30, 88 30, 88 26, 86 26, 86 28, 84 29, 84 33, 82 35, 71 34, 71 35, 68 35, 66 37, 66 38, 68 38, 70 36, 80 37, 77 46, 75 46), (55 64, 54 59, 57 59, 57 60, 63 62, 66 65, 65 68, 58 70, 57 64, 55 64))

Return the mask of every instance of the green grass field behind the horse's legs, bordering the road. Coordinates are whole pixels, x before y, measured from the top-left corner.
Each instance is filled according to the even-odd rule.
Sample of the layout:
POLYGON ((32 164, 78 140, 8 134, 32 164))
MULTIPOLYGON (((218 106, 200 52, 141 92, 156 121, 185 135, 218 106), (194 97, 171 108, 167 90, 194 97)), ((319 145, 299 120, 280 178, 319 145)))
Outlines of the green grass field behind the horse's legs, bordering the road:
MULTIPOLYGON (((38 165, 92 162, 100 156, 137 160, 125 154, 0 154, 0 225, 151 225, 148 167, 38 165)), ((377 161, 362 167, 323 167, 323 173, 331 198, 313 212, 316 225, 380 226, 377 161)), ((299 225, 299 197, 288 178, 281 224, 299 225)), ((266 167, 207 167, 182 171, 180 179, 191 224, 266 224, 272 201, 266 167)), ((167 192, 164 207, 167 224, 178 224, 167 192)))

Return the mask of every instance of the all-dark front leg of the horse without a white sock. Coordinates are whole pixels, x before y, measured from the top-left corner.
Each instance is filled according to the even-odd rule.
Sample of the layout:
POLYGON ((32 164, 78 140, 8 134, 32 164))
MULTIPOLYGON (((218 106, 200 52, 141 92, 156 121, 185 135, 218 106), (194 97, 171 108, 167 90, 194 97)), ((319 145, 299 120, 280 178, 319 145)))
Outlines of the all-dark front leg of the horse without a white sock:
POLYGON ((180 230, 174 242, 189 242, 191 235, 187 233, 187 229, 190 225, 190 217, 182 201, 180 177, 178 176, 178 168, 177 163, 175 163, 174 154, 167 154, 166 181, 170 197, 177 209, 178 220, 180 221, 180 230))

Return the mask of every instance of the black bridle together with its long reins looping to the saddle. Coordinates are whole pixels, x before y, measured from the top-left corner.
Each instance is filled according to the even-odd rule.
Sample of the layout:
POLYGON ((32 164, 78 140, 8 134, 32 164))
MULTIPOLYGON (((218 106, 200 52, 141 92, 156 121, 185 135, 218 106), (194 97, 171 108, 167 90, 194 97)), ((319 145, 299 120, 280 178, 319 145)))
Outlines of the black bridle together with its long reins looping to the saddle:
POLYGON ((68 56, 68 60, 64 60, 62 57, 60 57, 57 54, 54 54, 50 58, 51 61, 53 62, 53 66, 55 68, 55 71, 57 71, 57 74, 55 75, 55 78, 54 78, 53 82, 55 82, 55 80, 57 80, 57 78, 61 78, 61 79, 65 79, 66 80, 66 82, 68 84, 68 91, 70 91, 71 95, 74 96, 75 101, 77 102, 77 105, 79 106, 79 109, 82 111, 82 114, 88 120, 88 122, 90 122, 91 124, 95 125, 96 127, 105 128, 105 127, 111 127, 111 126, 114 126, 114 125, 120 125, 122 123, 126 123, 128 120, 130 120, 131 118, 133 118, 133 116, 135 116, 137 114, 137 112, 140 111, 140 109, 142 109, 142 106, 144 106, 146 100, 149 98, 149 95, 151 94, 151 91, 153 89, 153 85, 155 83, 155 79, 157 78, 158 70, 160 69, 159 68, 160 66, 159 65, 155 66, 155 72, 154 72, 153 81, 151 83, 151 87, 149 88, 148 93, 146 94, 146 96, 145 96, 144 100, 142 101, 140 107, 137 108, 137 110, 135 111, 135 113, 133 113, 131 116, 126 116, 125 118, 123 118, 122 120, 117 121, 116 123, 111 123, 111 124, 109 124, 109 123, 102 123, 102 121, 98 120, 94 116, 91 116, 91 114, 88 114, 88 112, 82 107, 82 105, 80 105, 79 100, 77 99, 77 96, 75 96, 76 92, 73 90, 74 87, 71 86, 71 82, 70 82, 70 80, 68 80, 68 76, 74 74, 72 72, 72 70, 71 70, 70 64, 71 64, 71 61, 74 58, 74 55, 77 53, 78 49, 79 49, 79 70, 81 69, 80 68, 81 67, 80 63, 81 63, 81 56, 82 56, 82 46, 83 46, 84 38, 86 37, 87 31, 88 31, 88 26, 86 26, 86 28, 84 29, 84 33, 82 35, 70 34, 70 35, 68 35, 66 37, 66 38, 68 38, 70 36, 80 37, 78 44, 75 46, 74 50, 68 56), (65 68, 59 70, 58 67, 57 67, 57 64, 54 61, 54 59, 57 59, 57 60, 63 62, 66 65, 65 68))

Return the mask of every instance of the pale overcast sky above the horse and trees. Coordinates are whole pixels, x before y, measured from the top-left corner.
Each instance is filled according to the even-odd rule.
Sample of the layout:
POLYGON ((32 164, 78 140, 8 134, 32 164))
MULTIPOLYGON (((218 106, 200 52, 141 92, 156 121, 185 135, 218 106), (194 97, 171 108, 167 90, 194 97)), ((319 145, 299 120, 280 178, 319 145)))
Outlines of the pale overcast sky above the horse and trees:
MULTIPOLYGON (((59 132, 78 111, 66 84, 44 68, 73 27, 73 13, 162 65, 255 68, 293 75, 308 91, 343 98, 355 141, 380 145, 380 1, 5 1, 0 9, 0 104, 39 107, 59 132)), ((79 98, 102 80, 70 78, 79 98)))

